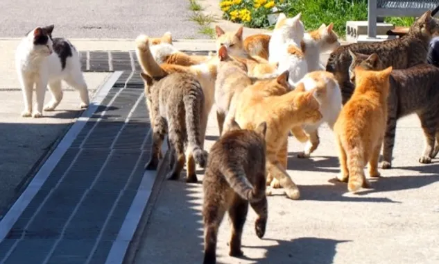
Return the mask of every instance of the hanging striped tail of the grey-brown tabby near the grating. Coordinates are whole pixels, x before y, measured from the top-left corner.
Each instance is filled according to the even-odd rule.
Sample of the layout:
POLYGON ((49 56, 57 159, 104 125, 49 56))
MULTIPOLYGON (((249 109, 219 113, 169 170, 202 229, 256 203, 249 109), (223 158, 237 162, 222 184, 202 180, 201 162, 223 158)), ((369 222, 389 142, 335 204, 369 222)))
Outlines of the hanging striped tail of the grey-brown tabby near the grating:
POLYGON ((188 147, 195 162, 204 168, 206 167, 208 156, 207 151, 201 147, 201 140, 204 140, 204 138, 200 136, 200 113, 204 106, 204 94, 198 81, 194 81, 192 86, 189 94, 183 98, 184 110, 186 112, 188 147))

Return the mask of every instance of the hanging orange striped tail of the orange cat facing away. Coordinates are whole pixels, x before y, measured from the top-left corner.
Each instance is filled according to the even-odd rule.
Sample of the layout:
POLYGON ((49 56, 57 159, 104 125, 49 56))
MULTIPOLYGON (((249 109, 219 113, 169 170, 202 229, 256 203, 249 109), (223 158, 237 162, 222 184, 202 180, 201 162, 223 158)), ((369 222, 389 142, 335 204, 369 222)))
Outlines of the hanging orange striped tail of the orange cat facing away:
POLYGON ((365 184, 363 147, 350 147, 350 149, 347 149, 346 154, 347 167, 349 168, 347 189, 353 192, 359 190, 365 184))

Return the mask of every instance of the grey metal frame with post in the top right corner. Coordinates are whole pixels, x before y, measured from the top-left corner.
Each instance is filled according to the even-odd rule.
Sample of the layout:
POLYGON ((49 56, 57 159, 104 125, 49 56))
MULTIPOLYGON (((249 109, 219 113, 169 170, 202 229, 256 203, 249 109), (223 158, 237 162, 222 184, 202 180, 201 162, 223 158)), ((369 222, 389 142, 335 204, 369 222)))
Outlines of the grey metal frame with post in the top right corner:
POLYGON ((368 38, 377 38, 377 17, 419 17, 438 5, 439 0, 368 0, 368 38))

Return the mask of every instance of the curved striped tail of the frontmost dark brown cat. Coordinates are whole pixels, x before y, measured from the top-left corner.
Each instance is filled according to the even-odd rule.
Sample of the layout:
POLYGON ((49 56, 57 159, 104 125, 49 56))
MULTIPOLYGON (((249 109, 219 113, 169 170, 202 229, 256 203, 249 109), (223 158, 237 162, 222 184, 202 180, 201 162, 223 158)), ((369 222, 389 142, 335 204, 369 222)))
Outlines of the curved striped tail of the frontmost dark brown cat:
POLYGON ((230 187, 243 199, 247 201, 257 202, 265 197, 266 179, 263 176, 257 177, 255 186, 248 181, 244 170, 223 170, 223 174, 230 187))

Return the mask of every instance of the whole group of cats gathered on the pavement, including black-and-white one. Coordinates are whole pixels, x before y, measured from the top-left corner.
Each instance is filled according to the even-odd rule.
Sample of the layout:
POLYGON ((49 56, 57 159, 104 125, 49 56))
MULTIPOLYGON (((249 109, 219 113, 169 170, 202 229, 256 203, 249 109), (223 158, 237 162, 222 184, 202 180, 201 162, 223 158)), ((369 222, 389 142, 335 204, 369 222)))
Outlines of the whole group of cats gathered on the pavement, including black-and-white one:
MULTIPOLYGON (((216 26, 216 54, 187 55, 173 46, 171 33, 161 38, 139 35, 136 56, 145 83, 153 144, 146 170, 155 170, 168 135, 168 179, 187 166, 187 182, 203 179, 204 262, 216 263, 218 226, 227 211, 232 220, 230 256, 241 256, 241 234, 248 204, 258 217, 255 231, 264 236, 268 216, 266 185, 284 188, 290 199, 300 191, 286 172, 291 132, 307 142, 298 156, 307 158, 319 144, 323 122, 334 131, 341 165, 340 181, 350 191, 367 188, 363 168, 378 177, 391 167, 397 119, 416 113, 425 136, 420 163, 439 152, 439 68, 427 64, 429 42, 439 35, 437 10, 427 11, 407 35, 395 40, 341 46, 332 24, 305 32, 301 15, 279 15, 272 35, 236 33, 216 26), (326 68, 320 53, 331 51, 326 68), (213 105, 220 138, 205 151, 207 119, 213 105)), ((23 116, 41 117, 46 84, 53 110, 62 99, 60 81, 77 88, 80 107, 88 105, 87 85, 78 52, 68 40, 52 38, 53 25, 26 34, 17 49, 17 72, 24 91, 23 116), (49 59, 47 59, 49 58, 49 59), (32 108, 36 84, 37 109, 32 108)))

